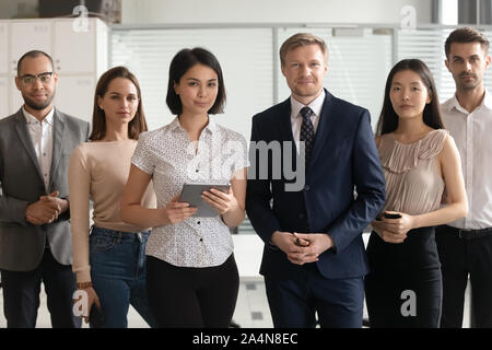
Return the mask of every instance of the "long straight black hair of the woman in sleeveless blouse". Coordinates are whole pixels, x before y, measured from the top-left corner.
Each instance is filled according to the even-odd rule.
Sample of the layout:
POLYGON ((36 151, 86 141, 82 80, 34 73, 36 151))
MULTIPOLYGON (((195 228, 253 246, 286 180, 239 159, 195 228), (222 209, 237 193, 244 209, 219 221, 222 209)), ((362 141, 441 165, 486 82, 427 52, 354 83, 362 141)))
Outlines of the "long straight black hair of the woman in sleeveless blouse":
POLYGON ((440 109, 440 98, 435 88, 434 78, 427 66, 420 59, 403 59, 395 65, 388 74, 385 88, 385 100, 383 102, 383 109, 380 110, 379 120, 377 121, 376 135, 393 132, 398 127, 398 115, 391 105, 389 93, 391 90, 393 78, 396 73, 402 70, 411 70, 419 74, 423 84, 427 89, 431 96, 431 102, 425 105, 423 110, 423 122, 433 129, 444 129, 443 118, 440 109))

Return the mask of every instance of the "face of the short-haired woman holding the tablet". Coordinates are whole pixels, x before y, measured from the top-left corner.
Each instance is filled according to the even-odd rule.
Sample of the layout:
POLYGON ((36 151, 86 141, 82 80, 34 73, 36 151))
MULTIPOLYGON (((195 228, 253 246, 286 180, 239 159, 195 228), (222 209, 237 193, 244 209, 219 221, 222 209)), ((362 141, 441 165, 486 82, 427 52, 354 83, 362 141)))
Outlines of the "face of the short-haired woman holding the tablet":
POLYGON ((183 114, 207 114, 219 92, 218 74, 212 68, 197 63, 174 84, 174 90, 181 101, 183 114))

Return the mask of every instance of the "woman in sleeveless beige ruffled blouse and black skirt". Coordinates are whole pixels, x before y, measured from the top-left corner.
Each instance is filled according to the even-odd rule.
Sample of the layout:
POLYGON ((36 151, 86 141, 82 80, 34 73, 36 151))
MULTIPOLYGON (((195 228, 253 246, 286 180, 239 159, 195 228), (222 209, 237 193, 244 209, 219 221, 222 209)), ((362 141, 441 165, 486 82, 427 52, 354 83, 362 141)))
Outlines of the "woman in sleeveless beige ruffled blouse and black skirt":
POLYGON ((386 203, 367 244, 370 325, 438 327, 443 293, 434 226, 464 218, 468 205, 459 153, 421 60, 401 60, 389 72, 376 144, 386 203))

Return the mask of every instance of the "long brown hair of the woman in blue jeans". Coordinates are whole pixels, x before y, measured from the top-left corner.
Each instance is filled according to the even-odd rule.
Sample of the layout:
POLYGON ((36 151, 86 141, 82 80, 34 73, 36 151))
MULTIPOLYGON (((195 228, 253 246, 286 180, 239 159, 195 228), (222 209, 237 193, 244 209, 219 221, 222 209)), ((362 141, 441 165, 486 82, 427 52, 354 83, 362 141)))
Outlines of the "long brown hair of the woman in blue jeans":
POLYGON ((106 115, 104 114, 104 110, 99 108, 97 102, 99 97, 104 97, 109 83, 116 78, 128 79, 133 83, 134 88, 137 88, 139 105, 133 119, 131 119, 128 124, 128 137, 130 139, 138 140, 139 135, 148 130, 139 81, 137 80, 137 77, 128 70, 128 68, 119 66, 106 71, 97 81, 96 91, 94 94, 94 109, 92 113, 92 133, 89 137, 91 141, 102 140, 106 136, 106 115))

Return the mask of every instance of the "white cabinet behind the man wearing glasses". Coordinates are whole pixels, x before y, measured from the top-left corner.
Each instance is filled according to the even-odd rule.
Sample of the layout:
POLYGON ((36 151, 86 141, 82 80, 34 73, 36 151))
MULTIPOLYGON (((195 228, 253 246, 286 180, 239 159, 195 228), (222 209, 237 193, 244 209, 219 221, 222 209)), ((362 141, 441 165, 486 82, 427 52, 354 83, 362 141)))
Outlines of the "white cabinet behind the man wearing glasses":
POLYGON ((74 19, 0 21, 0 118, 15 113, 23 104, 15 88, 17 60, 38 49, 52 57, 58 73, 55 106, 72 116, 92 120, 97 79, 108 67, 107 25, 87 19, 87 26, 74 19))

